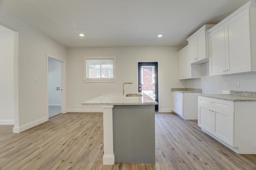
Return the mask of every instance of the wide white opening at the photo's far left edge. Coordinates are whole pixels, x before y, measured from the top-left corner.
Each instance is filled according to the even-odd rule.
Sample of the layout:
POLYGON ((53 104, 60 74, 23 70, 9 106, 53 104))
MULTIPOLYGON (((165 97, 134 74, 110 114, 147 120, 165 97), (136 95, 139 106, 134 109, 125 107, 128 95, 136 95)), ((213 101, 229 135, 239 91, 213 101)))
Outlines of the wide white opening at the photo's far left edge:
POLYGON ((2 23, 0 49, 0 125, 18 127, 18 31, 2 23))

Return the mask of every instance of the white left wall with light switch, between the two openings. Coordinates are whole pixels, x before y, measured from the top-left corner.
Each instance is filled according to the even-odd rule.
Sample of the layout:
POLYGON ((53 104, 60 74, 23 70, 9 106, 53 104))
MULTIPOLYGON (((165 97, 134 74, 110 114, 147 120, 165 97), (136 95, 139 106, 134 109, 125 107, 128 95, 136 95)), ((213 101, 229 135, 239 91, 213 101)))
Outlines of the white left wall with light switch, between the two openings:
POLYGON ((2 9, 0 23, 18 30, 18 59, 14 60, 14 64, 18 61, 18 85, 14 86, 18 86, 19 107, 14 132, 20 132, 48 120, 46 53, 65 61, 67 48, 2 9))

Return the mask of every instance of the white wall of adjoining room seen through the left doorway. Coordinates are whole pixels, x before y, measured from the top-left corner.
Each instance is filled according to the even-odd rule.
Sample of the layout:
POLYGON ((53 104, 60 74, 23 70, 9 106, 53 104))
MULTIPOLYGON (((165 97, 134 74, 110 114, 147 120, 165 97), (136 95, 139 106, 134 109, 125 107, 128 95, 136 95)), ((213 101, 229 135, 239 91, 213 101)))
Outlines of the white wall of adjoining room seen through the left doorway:
POLYGON ((61 91, 56 91, 56 87, 61 88, 61 62, 48 58, 48 105, 61 106, 61 91))

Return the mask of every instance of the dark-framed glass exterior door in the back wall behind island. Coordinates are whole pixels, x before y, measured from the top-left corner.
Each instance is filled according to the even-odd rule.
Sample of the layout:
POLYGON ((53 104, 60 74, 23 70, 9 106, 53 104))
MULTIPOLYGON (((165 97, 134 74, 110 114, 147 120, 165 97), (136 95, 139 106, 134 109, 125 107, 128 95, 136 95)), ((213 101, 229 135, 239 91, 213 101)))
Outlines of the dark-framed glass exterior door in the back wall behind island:
MULTIPOLYGON (((138 92, 148 95, 158 102, 158 63, 138 63, 138 92)), ((158 105, 155 105, 158 111, 158 105)))

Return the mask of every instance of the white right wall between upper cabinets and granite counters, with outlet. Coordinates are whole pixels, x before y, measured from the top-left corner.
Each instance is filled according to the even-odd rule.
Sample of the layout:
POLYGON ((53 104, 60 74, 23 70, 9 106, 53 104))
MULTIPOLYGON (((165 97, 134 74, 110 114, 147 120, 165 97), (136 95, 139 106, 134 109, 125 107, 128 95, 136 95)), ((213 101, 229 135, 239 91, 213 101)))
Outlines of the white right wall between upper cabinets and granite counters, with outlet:
POLYGON ((204 94, 220 94, 221 90, 256 92, 256 73, 209 76, 209 63, 201 66, 202 78, 199 79, 201 84, 198 79, 187 80, 187 88, 200 88, 201 86, 204 94), (236 82, 240 82, 240 88, 236 88, 236 82))

